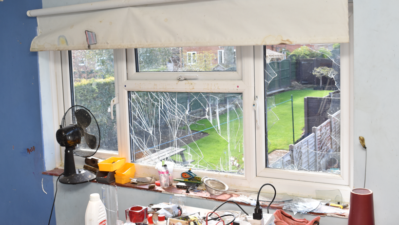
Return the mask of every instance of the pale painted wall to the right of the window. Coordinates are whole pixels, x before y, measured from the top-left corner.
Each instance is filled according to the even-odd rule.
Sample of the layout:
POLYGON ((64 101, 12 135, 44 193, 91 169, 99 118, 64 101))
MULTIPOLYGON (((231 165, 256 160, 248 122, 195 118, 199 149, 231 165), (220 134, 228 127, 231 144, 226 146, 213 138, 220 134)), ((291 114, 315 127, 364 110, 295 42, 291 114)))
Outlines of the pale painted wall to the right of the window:
POLYGON ((363 136, 376 225, 398 224, 398 8, 399 1, 354 2, 354 184, 363 187, 363 136))

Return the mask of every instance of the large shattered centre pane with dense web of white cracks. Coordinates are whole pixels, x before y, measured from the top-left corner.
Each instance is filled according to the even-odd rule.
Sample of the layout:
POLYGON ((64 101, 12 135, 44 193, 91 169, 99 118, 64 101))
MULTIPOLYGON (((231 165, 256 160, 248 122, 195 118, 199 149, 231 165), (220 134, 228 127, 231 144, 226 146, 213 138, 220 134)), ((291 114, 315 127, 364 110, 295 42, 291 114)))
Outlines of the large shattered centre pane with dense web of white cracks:
POLYGON ((242 93, 129 92, 132 159, 244 173, 242 93))

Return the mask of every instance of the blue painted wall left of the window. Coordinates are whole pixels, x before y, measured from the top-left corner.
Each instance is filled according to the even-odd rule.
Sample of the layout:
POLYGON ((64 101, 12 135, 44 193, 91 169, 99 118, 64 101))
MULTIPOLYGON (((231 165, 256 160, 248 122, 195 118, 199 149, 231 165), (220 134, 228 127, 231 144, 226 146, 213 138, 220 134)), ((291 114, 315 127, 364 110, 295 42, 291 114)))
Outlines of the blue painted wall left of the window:
POLYGON ((41 174, 38 54, 29 51, 37 20, 26 16, 41 6, 41 0, 0 1, 1 224, 47 224, 54 199, 53 177, 41 174))

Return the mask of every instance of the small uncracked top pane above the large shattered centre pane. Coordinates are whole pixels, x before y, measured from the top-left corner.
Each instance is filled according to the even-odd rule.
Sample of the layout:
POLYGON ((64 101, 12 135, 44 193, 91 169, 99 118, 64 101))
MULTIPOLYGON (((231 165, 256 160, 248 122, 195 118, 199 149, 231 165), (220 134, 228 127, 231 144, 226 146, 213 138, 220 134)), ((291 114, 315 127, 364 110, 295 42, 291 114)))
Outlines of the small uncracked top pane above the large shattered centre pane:
POLYGON ((237 71, 235 46, 138 48, 137 72, 237 71))

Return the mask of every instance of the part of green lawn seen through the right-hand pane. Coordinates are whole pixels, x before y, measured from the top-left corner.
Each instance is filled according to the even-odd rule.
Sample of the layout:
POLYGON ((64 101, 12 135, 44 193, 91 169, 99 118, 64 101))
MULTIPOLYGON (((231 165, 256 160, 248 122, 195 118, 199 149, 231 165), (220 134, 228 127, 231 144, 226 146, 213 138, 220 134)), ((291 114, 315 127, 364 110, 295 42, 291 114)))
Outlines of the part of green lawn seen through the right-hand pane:
MULTIPOLYGON (((329 92, 331 91, 315 91, 313 89, 304 89, 286 91, 274 95, 274 101, 276 104, 280 102, 285 102, 286 100, 290 100, 291 95, 293 96, 295 140, 300 137, 303 132, 302 129, 304 128, 304 97, 324 97, 328 95, 329 92)), ((276 116, 279 118, 279 121, 277 121, 268 132, 268 139, 270 144, 268 152, 270 153, 276 149, 288 150, 288 145, 293 143, 291 102, 289 101, 277 105, 271 111, 276 114, 276 116)), ((269 127, 275 121, 275 116, 271 111, 267 113, 267 125, 269 127)))

